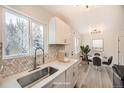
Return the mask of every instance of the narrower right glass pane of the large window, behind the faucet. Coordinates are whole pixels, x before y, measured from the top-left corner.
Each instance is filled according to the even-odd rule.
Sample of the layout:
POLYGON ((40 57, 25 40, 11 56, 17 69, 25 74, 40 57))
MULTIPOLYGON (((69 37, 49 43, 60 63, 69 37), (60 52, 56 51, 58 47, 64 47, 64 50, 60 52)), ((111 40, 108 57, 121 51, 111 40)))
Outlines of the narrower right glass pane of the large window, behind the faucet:
POLYGON ((32 32, 32 42, 31 42, 31 51, 34 53, 35 49, 38 47, 44 48, 43 43, 43 25, 32 22, 31 23, 31 32, 32 32))

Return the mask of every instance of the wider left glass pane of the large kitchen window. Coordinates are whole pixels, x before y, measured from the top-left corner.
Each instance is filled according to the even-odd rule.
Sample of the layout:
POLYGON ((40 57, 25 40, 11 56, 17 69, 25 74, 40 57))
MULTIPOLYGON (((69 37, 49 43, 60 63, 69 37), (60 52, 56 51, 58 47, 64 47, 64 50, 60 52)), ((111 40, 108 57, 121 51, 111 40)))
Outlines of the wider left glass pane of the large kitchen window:
POLYGON ((29 21, 18 14, 5 12, 4 56, 29 54, 29 21))

